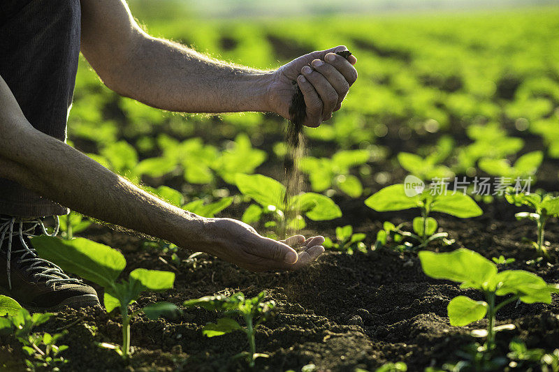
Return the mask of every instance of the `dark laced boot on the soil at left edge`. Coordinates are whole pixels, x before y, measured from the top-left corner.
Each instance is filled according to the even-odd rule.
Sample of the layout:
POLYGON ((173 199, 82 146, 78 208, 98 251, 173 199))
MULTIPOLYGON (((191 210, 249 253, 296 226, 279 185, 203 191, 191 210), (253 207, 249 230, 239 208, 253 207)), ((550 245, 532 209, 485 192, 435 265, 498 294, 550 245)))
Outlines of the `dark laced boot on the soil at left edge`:
MULTIPOLYGON (((0 215, 0 294, 12 297, 29 311, 98 305, 94 288, 38 258, 29 241, 36 231, 47 234, 42 218, 0 215)), ((51 236, 57 232, 58 223, 51 236)))

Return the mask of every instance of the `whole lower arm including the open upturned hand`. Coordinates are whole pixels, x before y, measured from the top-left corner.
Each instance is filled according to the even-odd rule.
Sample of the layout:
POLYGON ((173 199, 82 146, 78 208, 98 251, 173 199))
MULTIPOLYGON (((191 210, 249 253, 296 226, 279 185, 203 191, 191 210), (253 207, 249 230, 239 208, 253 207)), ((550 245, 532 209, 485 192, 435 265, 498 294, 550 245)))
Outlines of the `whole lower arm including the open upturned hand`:
MULTIPOLYGON (((253 271, 296 269, 316 259, 324 238, 307 239, 297 255, 287 244, 261 237, 228 218, 203 218, 155 198, 53 137, 24 117, 0 77, 0 177, 82 214, 203 251, 253 271)), ((303 237, 289 243, 300 244, 303 237)))

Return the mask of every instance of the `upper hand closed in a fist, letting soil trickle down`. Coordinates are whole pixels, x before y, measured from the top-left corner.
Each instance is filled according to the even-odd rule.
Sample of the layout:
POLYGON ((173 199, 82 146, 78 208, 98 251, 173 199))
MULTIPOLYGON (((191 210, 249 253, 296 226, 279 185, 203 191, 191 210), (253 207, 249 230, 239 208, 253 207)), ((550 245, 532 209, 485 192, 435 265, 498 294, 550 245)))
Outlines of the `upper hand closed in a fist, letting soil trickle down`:
POLYGON ((330 119, 334 111, 340 110, 349 87, 357 80, 357 70, 353 66, 357 59, 353 55, 345 59, 335 54, 342 50, 347 50, 347 47, 340 45, 312 52, 278 68, 268 88, 272 111, 291 119, 289 105, 296 92, 293 85, 296 82, 307 106, 303 124, 317 127, 322 121, 330 119))

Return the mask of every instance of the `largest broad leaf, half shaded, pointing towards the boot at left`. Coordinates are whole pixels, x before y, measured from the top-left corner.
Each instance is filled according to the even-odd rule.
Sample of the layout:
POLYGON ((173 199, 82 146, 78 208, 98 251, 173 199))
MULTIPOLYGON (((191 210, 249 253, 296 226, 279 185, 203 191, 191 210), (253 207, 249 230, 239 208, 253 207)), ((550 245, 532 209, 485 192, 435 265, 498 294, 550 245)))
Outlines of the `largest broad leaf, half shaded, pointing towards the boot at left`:
POLYGON ((84 238, 61 240, 41 236, 31 238, 31 244, 41 258, 103 288, 110 288, 126 266, 122 253, 84 238))

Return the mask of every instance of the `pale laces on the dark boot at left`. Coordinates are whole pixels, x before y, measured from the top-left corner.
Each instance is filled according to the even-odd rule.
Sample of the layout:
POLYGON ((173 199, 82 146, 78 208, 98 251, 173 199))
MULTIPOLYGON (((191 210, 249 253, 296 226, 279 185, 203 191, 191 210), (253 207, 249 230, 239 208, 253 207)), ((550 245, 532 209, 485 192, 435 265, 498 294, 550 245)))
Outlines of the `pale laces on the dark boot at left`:
POLYGON ((12 277, 11 277, 11 258, 12 254, 19 255, 17 263, 22 264, 25 267, 25 271, 33 274, 36 278, 41 278, 45 281, 46 285, 56 285, 56 284, 79 284, 81 283, 78 279, 70 278, 68 275, 62 271, 60 267, 53 264, 50 261, 43 260, 39 258, 35 249, 30 248, 25 241, 25 237, 34 237, 34 232, 37 226, 41 226, 43 234, 50 237, 55 237, 59 230, 59 220, 55 216, 55 231, 52 234, 48 234, 45 229, 45 225, 41 218, 22 218, 22 217, 4 217, 0 216, 0 250, 3 249, 4 241, 7 240, 7 264, 6 271, 8 272, 8 287, 12 289, 12 277), (22 244, 21 249, 12 250, 12 241, 14 238, 19 238, 22 244))

